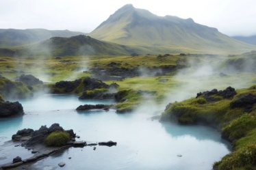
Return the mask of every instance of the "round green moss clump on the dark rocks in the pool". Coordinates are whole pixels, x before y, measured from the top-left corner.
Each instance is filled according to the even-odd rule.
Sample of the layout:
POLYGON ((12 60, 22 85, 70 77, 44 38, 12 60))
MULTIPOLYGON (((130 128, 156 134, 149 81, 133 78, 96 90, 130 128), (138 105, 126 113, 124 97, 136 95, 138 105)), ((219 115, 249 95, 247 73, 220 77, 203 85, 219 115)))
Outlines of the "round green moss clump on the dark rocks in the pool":
POLYGON ((66 145, 66 143, 70 139, 71 137, 68 134, 68 132, 57 131, 57 132, 51 132, 51 134, 49 134, 47 138, 44 140, 44 143, 47 146, 60 147, 60 146, 66 145))

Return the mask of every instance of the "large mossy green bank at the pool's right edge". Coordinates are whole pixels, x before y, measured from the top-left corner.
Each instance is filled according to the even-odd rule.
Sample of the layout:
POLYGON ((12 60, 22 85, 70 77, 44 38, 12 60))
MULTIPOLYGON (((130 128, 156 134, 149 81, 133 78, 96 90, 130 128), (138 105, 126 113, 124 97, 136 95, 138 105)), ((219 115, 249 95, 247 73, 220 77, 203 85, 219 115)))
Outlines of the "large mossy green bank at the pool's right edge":
MULTIPOLYGON (((205 100, 204 96, 168 104, 163 120, 181 124, 207 124, 218 128, 233 145, 233 152, 214 164, 216 170, 256 168, 255 86, 239 89, 233 98, 205 100), (243 103, 241 103, 243 102, 243 103), (236 107, 233 107, 233 104, 236 107), (250 107, 250 109, 248 109, 250 107)), ((215 96, 217 97, 217 96, 215 96)))

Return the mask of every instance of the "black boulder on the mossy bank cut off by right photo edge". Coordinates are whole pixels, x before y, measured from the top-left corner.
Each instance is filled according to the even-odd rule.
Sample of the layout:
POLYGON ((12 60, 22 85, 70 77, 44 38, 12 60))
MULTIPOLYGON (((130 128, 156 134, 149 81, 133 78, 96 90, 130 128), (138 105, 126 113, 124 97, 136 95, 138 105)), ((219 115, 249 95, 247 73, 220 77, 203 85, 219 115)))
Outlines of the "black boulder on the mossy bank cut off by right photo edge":
POLYGON ((237 100, 230 103, 230 108, 243 107, 245 112, 251 112, 253 104, 256 103, 256 96, 253 94, 245 94, 240 96, 237 100))

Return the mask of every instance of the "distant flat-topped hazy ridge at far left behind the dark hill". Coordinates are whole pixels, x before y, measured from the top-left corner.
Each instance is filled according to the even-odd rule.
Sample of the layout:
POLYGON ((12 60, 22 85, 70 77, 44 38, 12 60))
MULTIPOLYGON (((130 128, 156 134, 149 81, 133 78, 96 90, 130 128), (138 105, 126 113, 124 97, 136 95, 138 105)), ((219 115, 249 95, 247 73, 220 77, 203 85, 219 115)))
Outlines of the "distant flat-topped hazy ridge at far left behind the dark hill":
POLYGON ((47 40, 52 37, 71 37, 84 34, 68 30, 0 29, 0 47, 8 48, 47 40))

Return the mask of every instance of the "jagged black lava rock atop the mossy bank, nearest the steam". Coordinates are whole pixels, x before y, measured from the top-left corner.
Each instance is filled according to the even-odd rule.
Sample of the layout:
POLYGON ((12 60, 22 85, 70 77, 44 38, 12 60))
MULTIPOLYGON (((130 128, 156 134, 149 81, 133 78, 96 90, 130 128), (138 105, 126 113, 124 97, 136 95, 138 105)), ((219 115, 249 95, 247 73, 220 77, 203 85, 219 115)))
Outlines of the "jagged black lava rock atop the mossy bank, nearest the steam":
POLYGON ((220 91, 218 91, 218 89, 212 89, 211 91, 200 92, 196 95, 196 98, 203 96, 207 102, 215 102, 220 100, 220 98, 216 98, 216 96, 220 96, 222 98, 233 98, 235 94, 237 93, 233 87, 227 87, 225 90, 220 91))

